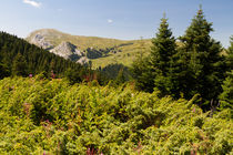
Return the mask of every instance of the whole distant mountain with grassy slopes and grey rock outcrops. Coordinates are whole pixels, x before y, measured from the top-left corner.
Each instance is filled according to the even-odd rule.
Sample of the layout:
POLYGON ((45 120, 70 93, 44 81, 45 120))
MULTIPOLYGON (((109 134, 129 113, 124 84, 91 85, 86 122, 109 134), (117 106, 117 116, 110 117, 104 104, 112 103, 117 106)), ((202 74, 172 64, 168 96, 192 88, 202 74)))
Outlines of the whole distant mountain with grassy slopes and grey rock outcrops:
POLYGON ((122 63, 130 66, 140 52, 146 55, 151 46, 150 40, 124 41, 71 35, 54 29, 36 30, 26 40, 64 59, 82 63, 90 60, 93 68, 104 68, 112 63, 122 63), (79 51, 79 54, 77 54, 75 50, 79 51))

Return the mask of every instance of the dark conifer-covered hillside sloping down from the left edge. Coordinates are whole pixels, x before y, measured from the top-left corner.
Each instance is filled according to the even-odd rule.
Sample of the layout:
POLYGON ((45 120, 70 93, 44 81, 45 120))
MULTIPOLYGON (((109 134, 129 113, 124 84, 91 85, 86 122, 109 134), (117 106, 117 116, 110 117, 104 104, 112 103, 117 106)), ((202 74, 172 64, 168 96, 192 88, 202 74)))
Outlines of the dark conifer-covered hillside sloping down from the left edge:
POLYGON ((8 75, 28 76, 41 72, 47 74, 53 72, 57 75, 63 75, 67 69, 82 69, 80 64, 6 32, 0 32, 0 78, 8 75))

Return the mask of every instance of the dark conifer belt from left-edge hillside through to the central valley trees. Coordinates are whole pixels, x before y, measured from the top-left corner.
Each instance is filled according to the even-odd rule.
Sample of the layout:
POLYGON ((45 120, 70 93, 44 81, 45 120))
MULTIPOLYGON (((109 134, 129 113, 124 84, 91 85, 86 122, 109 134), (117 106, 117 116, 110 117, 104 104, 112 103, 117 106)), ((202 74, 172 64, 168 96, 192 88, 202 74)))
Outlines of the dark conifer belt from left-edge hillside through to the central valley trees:
MULTIPOLYGON (((41 74, 45 79, 67 78, 70 84, 97 80, 103 85, 116 79, 121 70, 126 69, 114 64, 92 70, 91 64, 81 65, 30 44, 16 35, 0 32, 0 79, 41 74)), ((121 80, 121 83, 124 81, 121 80)))

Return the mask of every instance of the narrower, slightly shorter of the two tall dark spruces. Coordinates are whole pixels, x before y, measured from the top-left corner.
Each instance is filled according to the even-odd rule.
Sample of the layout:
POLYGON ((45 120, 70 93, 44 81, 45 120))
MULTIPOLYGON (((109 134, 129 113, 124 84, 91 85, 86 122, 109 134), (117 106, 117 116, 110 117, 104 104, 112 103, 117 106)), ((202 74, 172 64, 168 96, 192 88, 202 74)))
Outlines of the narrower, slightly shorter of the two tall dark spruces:
POLYGON ((159 90, 162 96, 179 97, 176 43, 171 29, 169 29, 168 19, 161 19, 159 31, 156 37, 152 39, 152 44, 150 66, 154 72, 155 90, 159 90))

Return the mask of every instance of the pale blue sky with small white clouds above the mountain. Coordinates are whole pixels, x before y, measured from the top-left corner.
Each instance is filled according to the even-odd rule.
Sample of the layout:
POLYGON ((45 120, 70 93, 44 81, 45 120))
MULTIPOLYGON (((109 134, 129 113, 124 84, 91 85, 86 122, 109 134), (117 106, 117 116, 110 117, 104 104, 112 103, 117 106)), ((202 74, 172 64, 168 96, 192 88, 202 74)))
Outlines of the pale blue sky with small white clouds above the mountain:
POLYGON ((155 37, 164 12, 183 35, 202 4, 211 35, 224 48, 233 35, 233 0, 1 0, 0 31, 26 38, 38 29, 74 35, 138 40, 155 37))

